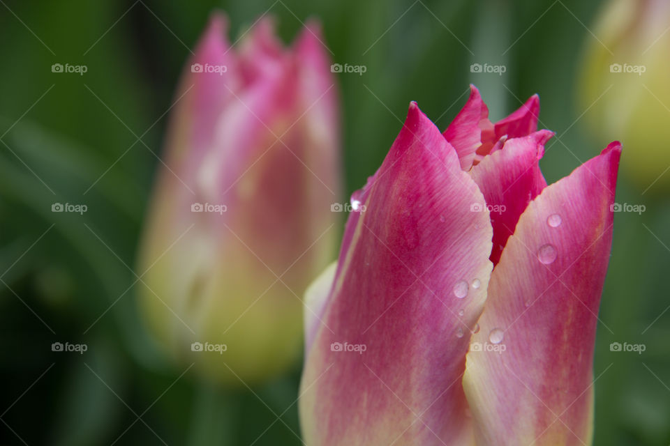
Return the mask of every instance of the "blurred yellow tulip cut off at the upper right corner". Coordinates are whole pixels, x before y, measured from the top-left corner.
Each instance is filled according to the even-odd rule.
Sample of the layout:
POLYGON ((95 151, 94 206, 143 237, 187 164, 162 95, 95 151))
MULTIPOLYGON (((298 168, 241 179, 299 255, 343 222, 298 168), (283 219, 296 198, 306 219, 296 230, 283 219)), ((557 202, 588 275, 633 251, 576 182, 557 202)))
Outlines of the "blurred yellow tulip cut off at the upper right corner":
POLYGON ((618 132, 624 171, 645 190, 670 187, 670 2, 611 0, 597 17, 580 64, 579 104, 589 130, 618 132))

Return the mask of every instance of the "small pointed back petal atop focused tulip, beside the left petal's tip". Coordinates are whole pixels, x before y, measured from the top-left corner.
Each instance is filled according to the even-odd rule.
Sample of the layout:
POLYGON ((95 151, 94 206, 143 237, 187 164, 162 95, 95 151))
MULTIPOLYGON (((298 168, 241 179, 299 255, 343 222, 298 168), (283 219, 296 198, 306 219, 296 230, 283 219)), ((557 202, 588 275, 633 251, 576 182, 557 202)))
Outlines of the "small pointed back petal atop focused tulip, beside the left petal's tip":
POLYGON ((476 86, 470 85, 468 102, 442 135, 459 154, 461 169, 470 170, 475 161, 477 148, 482 145, 482 141, 493 138, 489 107, 484 104, 482 95, 479 94, 476 86))

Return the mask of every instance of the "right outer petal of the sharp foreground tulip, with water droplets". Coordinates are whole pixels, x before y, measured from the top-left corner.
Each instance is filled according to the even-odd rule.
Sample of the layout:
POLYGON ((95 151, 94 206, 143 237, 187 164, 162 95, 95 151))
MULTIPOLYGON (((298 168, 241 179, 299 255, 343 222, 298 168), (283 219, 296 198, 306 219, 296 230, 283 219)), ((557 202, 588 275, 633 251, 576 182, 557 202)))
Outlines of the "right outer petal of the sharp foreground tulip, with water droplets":
POLYGON ((612 143, 546 187, 507 241, 463 378, 477 445, 590 444, 620 152, 612 143))

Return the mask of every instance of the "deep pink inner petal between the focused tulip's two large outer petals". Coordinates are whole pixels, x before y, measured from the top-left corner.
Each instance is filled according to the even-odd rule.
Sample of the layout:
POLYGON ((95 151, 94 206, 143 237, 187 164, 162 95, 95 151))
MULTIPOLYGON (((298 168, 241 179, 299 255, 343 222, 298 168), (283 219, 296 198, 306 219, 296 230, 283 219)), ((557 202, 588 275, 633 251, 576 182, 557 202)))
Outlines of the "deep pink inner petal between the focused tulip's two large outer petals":
POLYGON ((523 210, 546 186, 537 162, 552 136, 553 132, 541 130, 527 137, 507 139, 501 150, 494 149, 470 170, 491 213, 493 265, 498 263, 523 210))

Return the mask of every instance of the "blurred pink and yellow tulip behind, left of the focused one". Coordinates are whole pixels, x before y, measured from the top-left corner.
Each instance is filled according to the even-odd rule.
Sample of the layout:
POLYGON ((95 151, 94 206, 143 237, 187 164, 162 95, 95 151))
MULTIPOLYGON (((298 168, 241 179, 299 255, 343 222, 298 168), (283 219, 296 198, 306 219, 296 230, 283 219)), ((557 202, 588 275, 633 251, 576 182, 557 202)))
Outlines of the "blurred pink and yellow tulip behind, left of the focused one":
POLYGON ((302 295, 336 256, 338 105, 320 30, 291 49, 264 19, 239 47, 214 15, 186 66, 141 241, 158 345, 221 383, 301 353, 302 295))

